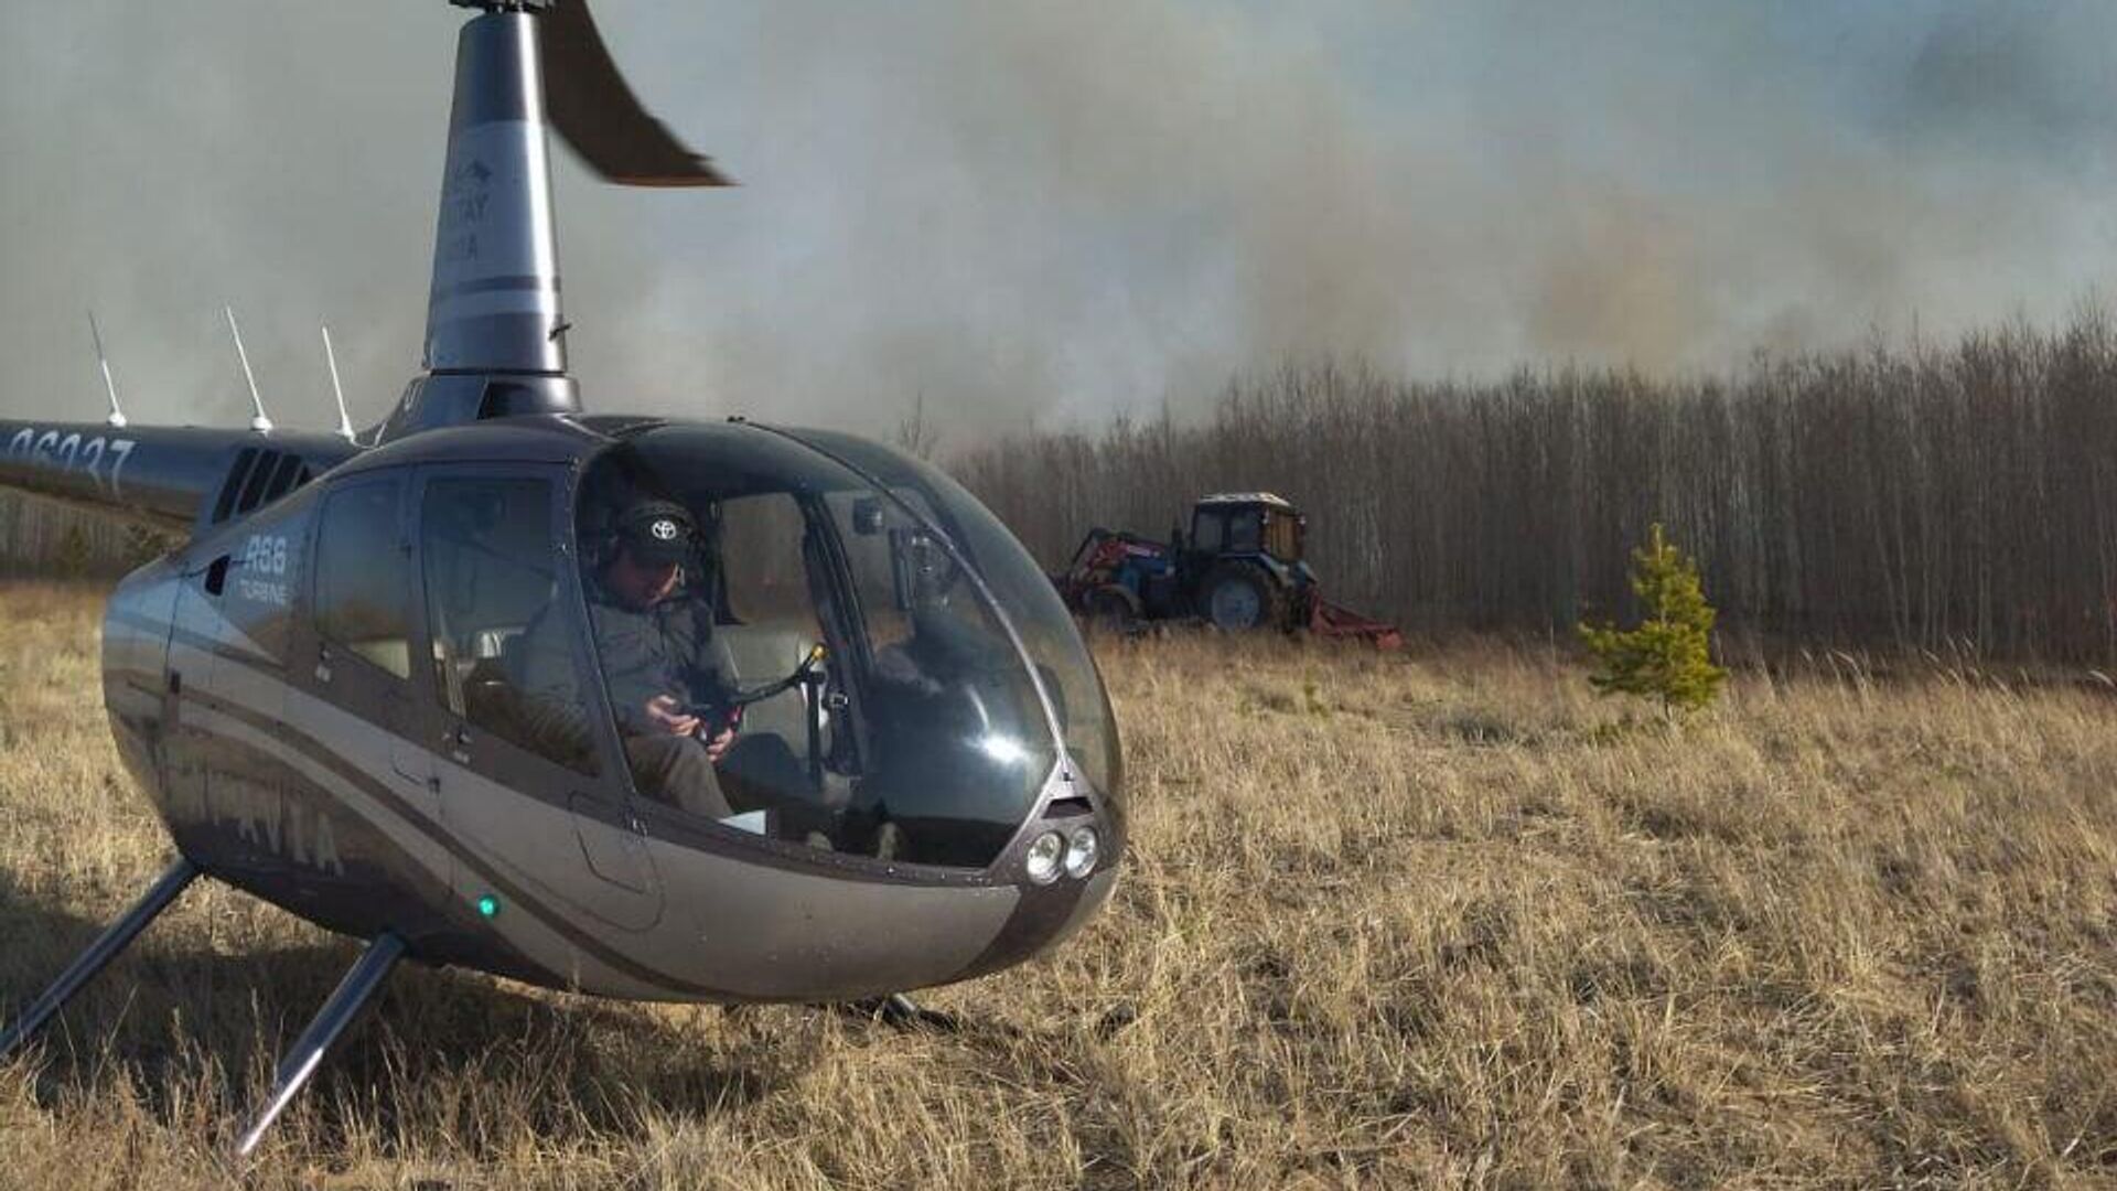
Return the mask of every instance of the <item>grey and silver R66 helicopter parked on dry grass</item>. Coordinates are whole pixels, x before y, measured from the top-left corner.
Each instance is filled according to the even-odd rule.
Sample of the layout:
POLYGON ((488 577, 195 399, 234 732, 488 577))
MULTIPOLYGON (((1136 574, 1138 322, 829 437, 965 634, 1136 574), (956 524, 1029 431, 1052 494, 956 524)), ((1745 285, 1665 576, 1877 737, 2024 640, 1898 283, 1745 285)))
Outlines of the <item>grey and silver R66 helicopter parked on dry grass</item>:
POLYGON ((970 492, 834 430, 582 407, 548 129, 612 182, 730 182, 584 0, 451 4, 426 358, 381 424, 341 394, 339 432, 260 401, 248 430, 133 426, 114 386, 104 422, 0 422, 0 485, 182 536, 102 623, 112 735, 178 858, 0 1055, 191 882, 246 890, 364 949, 239 1155, 404 960, 919 1015, 906 992, 1073 935, 1126 846, 1094 661, 970 492), (644 708, 633 638, 675 608, 699 678, 644 708), (686 795, 701 769, 718 797, 686 795))

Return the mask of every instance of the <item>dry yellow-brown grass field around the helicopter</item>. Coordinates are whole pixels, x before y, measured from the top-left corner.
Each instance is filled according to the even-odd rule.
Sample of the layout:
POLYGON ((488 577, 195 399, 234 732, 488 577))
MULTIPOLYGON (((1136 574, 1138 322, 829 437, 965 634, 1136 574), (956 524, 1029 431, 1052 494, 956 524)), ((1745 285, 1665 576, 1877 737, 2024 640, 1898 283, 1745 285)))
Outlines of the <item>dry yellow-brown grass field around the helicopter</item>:
MULTIPOLYGON (((87 591, 0 591, 0 1011, 165 863, 87 591)), ((4 1187, 2117 1183, 2117 699, 1567 657, 1103 651, 1109 911, 959 1034, 413 968, 248 1174, 354 947, 195 886, 0 1066, 4 1187)))

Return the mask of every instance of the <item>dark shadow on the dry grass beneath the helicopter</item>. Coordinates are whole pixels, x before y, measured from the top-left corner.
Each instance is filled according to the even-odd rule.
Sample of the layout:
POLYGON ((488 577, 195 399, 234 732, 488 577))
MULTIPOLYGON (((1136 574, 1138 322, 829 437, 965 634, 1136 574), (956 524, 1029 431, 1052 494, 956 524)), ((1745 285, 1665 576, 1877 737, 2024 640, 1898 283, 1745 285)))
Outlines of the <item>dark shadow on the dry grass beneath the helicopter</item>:
MULTIPOLYGON (((0 954, 0 1021, 23 1011, 102 930, 102 922, 42 901, 0 871, 0 939, 19 941, 0 954)), ((224 1108, 220 1125, 233 1136, 243 1123, 237 1117, 260 1102, 279 1053, 358 954, 358 943, 324 935, 216 947, 199 930, 150 926, 32 1041, 36 1098, 49 1110, 106 1083, 114 1068, 159 1123, 191 1127, 184 1115, 203 1096, 224 1108)), ((709 1115, 758 1102, 798 1079, 815 1055, 811 1032, 694 1030, 696 1021, 637 1005, 525 992, 406 962, 324 1060, 294 1113, 307 1113, 324 1136, 358 1125, 419 1140, 442 1100, 476 1113, 476 1100, 487 1098, 506 1100, 508 1130, 629 1134, 641 1110, 709 1115), (453 1091, 430 1098, 423 1089, 453 1091)), ((483 1136, 453 1134, 472 1149, 483 1136)), ((497 1132, 489 1138, 493 1146, 508 1140, 497 1132)))

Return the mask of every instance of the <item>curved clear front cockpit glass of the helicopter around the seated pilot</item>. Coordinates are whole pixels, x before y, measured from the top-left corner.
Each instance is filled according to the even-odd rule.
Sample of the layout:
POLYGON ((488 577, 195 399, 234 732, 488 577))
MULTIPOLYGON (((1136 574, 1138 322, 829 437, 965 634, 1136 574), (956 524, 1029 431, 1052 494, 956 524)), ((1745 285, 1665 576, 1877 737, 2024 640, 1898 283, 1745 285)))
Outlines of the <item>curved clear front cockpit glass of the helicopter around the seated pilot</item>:
POLYGON ((967 530, 970 511, 991 519, 967 494, 889 451, 836 447, 663 426, 582 475, 589 638, 641 803, 785 843, 982 869, 1035 810, 1061 740, 1075 754, 1075 735, 1109 742, 1082 769, 1116 799, 1092 663, 1073 659, 1088 665, 1080 687, 1046 661, 1050 644, 1031 644, 1080 651, 1065 608, 1054 596, 1056 612, 1016 606, 993 583, 1001 551, 967 530), (1046 615, 1058 623, 1039 625, 1046 615), (1054 735, 1054 704, 1061 725, 1099 727, 1054 735))

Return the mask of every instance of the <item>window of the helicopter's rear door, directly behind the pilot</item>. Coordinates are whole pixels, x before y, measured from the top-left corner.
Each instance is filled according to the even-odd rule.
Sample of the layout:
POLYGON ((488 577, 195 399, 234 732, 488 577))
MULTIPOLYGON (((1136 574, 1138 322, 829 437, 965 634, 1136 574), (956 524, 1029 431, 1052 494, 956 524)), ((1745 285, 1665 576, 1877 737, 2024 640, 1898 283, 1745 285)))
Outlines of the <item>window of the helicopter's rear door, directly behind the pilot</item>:
POLYGON ((595 776, 595 731, 557 600, 542 479, 434 479, 419 509, 440 704, 517 748, 595 776))

